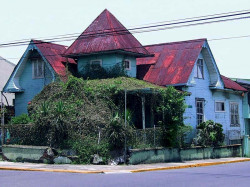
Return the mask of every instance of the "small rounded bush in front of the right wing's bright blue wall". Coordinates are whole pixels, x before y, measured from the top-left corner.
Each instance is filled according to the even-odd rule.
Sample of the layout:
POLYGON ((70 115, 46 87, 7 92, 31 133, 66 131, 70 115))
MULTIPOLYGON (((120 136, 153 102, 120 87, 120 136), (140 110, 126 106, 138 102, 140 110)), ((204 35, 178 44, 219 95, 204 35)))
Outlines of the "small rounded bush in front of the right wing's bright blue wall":
POLYGON ((197 127, 197 144, 200 146, 220 146, 224 142, 223 127, 212 120, 200 123, 197 127))

